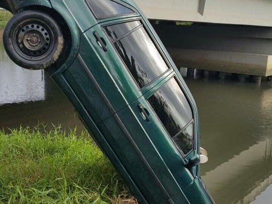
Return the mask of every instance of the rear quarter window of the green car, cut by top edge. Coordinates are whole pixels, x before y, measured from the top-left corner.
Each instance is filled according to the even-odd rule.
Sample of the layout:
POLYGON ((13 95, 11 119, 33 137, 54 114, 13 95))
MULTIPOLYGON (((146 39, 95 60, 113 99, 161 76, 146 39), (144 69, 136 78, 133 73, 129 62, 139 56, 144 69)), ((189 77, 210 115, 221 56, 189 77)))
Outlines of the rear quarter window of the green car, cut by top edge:
POLYGON ((133 14, 131 9, 111 0, 86 0, 97 19, 133 14))

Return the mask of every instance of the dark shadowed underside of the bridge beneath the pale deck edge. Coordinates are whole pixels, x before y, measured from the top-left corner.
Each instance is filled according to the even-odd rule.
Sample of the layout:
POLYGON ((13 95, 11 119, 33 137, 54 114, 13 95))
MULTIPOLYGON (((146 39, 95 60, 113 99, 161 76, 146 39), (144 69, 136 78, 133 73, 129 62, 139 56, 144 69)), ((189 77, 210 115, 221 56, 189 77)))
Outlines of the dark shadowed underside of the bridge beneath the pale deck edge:
POLYGON ((152 22, 177 66, 272 76, 272 28, 152 22))

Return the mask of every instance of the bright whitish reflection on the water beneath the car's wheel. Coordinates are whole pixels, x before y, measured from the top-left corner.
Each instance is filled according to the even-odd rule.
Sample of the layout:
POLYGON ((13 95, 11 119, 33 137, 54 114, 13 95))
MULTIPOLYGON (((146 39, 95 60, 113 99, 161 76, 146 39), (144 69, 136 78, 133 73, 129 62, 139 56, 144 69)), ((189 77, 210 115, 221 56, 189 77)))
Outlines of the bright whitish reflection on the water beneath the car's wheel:
MULTIPOLYGON (((2 39, 3 31, 0 31, 2 39)), ((24 70, 7 56, 0 42, 0 105, 45 99, 42 71, 24 70)))

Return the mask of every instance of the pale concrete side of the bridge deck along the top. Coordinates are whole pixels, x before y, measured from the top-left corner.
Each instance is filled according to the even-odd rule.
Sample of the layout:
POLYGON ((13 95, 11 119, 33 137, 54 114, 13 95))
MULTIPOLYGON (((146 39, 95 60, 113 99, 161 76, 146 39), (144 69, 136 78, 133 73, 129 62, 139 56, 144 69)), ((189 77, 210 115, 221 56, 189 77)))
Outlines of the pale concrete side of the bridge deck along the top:
POLYGON ((134 0, 149 19, 272 26, 270 0, 134 0))

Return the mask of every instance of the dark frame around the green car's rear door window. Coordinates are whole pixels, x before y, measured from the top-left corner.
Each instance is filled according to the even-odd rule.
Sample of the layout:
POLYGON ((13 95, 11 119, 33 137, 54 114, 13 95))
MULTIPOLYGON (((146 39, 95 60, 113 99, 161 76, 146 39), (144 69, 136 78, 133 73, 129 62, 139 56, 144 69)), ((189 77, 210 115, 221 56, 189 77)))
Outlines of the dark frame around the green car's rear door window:
MULTIPOLYGON (((125 21, 120 21, 120 22, 115 22, 115 23, 111 23, 111 24, 107 24, 107 25, 103 25, 101 26, 102 27, 102 30, 104 32, 104 34, 106 35, 106 37, 108 38, 108 40, 110 41, 112 47, 114 48, 116 54, 118 55, 119 59, 121 60, 123 66, 126 68, 126 71, 129 73, 130 77, 132 78, 134 84, 137 86, 138 88, 138 91, 142 91, 144 90, 146 87, 148 87, 149 85, 151 85, 153 82, 155 82, 156 80, 158 80, 159 78, 161 78, 162 76, 164 76, 166 73, 170 72, 173 70, 173 67, 171 65, 171 63, 168 61, 167 57, 165 56, 162 48, 160 47, 159 43, 156 41, 156 39, 154 38, 154 36, 151 34, 148 26, 146 25, 145 21, 142 19, 142 18, 134 18, 134 19, 130 19, 130 20, 125 20, 125 21), (131 72, 129 71, 126 63, 124 62, 124 60, 122 59, 122 57, 120 56, 120 54, 118 53, 114 43, 116 43, 118 40, 121 40, 123 38, 125 38, 126 36, 130 35, 131 33, 133 33, 134 31, 137 31, 138 29, 135 29, 133 30, 133 32, 127 32, 123 35, 125 35, 123 38, 120 38, 118 40, 114 40, 112 41, 111 38, 108 36, 106 30, 105 30, 105 27, 108 27, 108 26, 112 26, 112 25, 118 25, 118 24, 123 24, 123 23, 129 23, 129 22, 134 22, 134 21, 140 21, 141 25, 142 26, 138 26, 140 28, 144 28, 145 31, 147 32, 148 36, 150 37, 151 41, 153 42, 154 46, 157 48, 159 54, 161 55, 162 59, 164 60, 164 62, 166 63, 166 65, 168 66, 168 70, 166 70, 164 73, 162 73, 161 75, 159 75, 158 77, 156 77, 155 79, 153 79, 152 81, 150 81, 147 85, 145 85, 144 87, 140 87, 139 84, 137 83, 137 81, 135 80, 135 78, 133 77, 133 75, 131 74, 131 72), (127 35, 126 35, 127 34, 127 35)), ((137 27, 135 27, 137 28, 137 27)))

